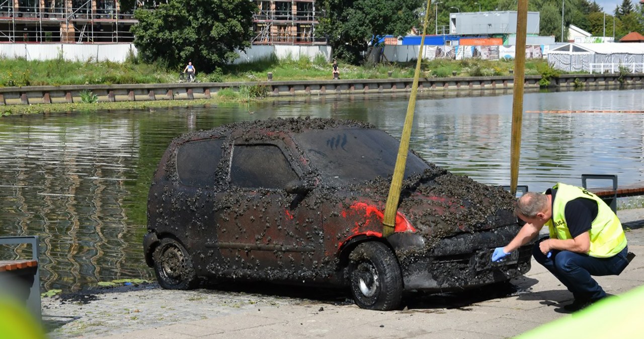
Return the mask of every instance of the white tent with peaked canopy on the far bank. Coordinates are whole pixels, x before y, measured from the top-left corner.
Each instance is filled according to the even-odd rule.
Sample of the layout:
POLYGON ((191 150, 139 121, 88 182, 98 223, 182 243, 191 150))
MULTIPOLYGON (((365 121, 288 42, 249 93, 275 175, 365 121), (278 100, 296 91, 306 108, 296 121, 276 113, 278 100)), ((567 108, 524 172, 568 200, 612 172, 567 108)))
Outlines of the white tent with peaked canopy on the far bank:
POLYGON ((644 43, 564 44, 548 53, 548 64, 562 71, 615 73, 620 66, 644 71, 644 43))

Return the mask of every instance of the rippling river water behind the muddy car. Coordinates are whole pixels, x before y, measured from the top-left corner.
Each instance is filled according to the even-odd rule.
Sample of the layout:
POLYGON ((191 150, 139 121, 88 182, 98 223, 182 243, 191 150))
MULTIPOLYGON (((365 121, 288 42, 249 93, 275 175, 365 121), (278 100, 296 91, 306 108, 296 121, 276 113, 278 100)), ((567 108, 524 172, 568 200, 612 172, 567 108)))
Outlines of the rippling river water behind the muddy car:
MULTIPOLYGON (((0 117, 0 235, 40 236, 44 290, 154 279, 142 255, 147 189, 175 136, 311 116, 363 120, 399 138, 407 104, 401 95, 327 96, 0 117)), ((643 181, 644 113, 614 112, 643 109, 644 89, 526 93, 519 185, 581 185, 584 173, 618 174, 620 184, 643 181), (571 110, 595 113, 544 112, 571 110)), ((509 185, 511 110, 511 92, 421 96, 411 147, 452 172, 509 185)), ((0 259, 28 254, 23 247, 0 250, 0 259)))

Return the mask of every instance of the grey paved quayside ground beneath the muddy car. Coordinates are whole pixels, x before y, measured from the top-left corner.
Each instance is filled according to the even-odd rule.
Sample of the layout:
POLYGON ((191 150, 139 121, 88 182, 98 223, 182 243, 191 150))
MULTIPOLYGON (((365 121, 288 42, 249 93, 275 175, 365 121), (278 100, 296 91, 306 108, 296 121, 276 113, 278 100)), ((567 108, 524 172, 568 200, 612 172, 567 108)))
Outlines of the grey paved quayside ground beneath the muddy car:
MULTIPOLYGON (((597 278, 617 298, 644 284, 644 209, 618 215, 637 257, 620 276, 597 278)), ((570 316, 562 306, 572 295, 533 261, 511 285, 406 300, 404 309, 382 312, 359 309, 343 291, 146 284, 43 298, 43 322, 50 338, 509 338, 570 316)))

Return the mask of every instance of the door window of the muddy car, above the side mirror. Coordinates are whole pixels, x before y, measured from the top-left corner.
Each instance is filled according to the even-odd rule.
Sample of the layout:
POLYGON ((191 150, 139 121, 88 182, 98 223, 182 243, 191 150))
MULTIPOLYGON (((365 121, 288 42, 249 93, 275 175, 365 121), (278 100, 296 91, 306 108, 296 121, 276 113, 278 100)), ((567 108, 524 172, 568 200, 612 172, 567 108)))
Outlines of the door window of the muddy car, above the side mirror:
POLYGON ((276 145, 234 145, 231 183, 248 188, 285 188, 298 179, 286 156, 276 145))

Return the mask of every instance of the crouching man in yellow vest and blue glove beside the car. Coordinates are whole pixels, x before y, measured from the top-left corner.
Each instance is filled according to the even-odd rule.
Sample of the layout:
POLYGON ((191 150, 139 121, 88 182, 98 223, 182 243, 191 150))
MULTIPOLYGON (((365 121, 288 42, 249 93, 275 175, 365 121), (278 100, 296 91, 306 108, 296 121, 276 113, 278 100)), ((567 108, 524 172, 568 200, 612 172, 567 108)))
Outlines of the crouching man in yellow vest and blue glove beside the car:
POLYGON ((527 192, 518 200, 515 214, 526 224, 510 243, 495 248, 491 260, 504 260, 547 225, 550 235, 535 243, 533 257, 573 293, 574 302, 564 306, 566 311, 578 311, 606 297, 591 275, 619 275, 629 264, 620 219, 584 188, 557 183, 544 194, 527 192))

